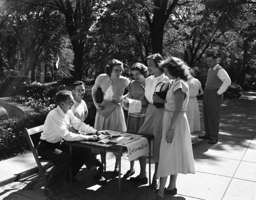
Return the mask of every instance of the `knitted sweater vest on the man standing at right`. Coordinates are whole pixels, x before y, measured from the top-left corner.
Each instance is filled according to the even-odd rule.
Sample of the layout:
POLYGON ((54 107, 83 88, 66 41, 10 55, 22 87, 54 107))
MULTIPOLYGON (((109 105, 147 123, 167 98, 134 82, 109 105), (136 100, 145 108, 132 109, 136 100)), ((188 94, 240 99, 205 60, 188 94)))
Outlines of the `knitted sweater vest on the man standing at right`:
POLYGON ((218 78, 218 70, 223 69, 221 66, 218 65, 218 67, 215 70, 209 70, 207 74, 207 80, 205 83, 205 89, 209 90, 218 90, 220 89, 223 82, 221 79, 218 78))

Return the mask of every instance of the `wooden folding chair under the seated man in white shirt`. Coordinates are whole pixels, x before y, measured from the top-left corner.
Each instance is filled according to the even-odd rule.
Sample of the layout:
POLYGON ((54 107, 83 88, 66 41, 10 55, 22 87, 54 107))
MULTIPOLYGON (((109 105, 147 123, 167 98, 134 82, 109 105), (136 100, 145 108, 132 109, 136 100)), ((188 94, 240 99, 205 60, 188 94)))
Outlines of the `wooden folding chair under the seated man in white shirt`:
POLYGON ((24 135, 25 135, 27 141, 29 142, 29 146, 32 150, 32 153, 34 155, 35 161, 36 161, 38 169, 39 169, 38 176, 35 177, 35 179, 25 187, 25 189, 27 189, 27 190, 33 189, 34 185, 36 183, 38 183, 38 181, 41 178, 43 179, 44 186, 46 188, 47 183, 48 183, 47 176, 49 176, 49 173, 46 176, 45 172, 46 172, 47 169, 49 169, 53 165, 51 161, 45 160, 44 158, 41 158, 41 157, 38 157, 38 154, 37 154, 37 151, 36 151, 36 147, 39 143, 41 132, 43 132, 43 130, 44 130, 44 125, 34 127, 34 128, 31 128, 31 129, 24 128, 24 135), (42 167, 41 162, 47 162, 47 164, 44 167, 42 167))

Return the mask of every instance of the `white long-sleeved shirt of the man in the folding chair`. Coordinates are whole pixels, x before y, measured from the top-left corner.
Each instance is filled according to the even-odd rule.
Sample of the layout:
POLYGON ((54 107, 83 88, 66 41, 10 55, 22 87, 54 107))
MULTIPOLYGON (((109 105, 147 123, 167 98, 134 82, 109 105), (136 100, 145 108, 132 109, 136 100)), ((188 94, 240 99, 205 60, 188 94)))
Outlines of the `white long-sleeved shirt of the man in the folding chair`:
POLYGON ((44 122, 44 132, 41 133, 41 140, 47 142, 57 143, 62 139, 66 141, 84 141, 88 140, 88 135, 80 135, 68 131, 69 126, 72 125, 76 130, 96 133, 96 129, 81 122, 79 118, 76 118, 71 110, 64 113, 61 107, 56 107, 51 110, 44 122))

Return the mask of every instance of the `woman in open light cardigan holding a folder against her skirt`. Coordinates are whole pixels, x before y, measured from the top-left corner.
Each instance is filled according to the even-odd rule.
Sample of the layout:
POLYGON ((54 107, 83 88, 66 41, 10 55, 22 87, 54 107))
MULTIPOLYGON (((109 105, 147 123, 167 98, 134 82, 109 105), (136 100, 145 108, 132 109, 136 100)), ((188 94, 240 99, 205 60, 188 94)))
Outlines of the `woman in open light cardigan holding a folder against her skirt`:
MULTIPOLYGON (((130 81, 126 77, 121 76, 122 71, 123 63, 113 59, 105 67, 105 73, 100 74, 95 80, 92 88, 92 97, 97 111, 105 109, 101 104, 96 102, 96 91, 99 87, 102 88, 103 99, 116 104, 116 108, 110 113, 108 118, 103 117, 98 112, 96 113, 94 127, 97 130, 126 131, 125 116, 120 101, 125 87, 129 85, 130 81)), ((119 173, 117 158, 114 173, 119 173)))

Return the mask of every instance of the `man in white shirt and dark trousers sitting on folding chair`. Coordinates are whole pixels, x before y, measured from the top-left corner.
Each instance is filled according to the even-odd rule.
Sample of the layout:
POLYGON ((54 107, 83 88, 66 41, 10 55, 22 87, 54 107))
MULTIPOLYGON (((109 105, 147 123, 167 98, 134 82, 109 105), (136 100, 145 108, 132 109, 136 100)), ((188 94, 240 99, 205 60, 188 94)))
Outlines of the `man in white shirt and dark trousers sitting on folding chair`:
POLYGON ((38 155, 52 161, 52 177, 48 180, 48 186, 44 190, 45 196, 50 199, 61 199, 57 192, 61 192, 64 180, 69 178, 69 168, 72 165, 72 180, 85 164, 87 169, 93 173, 93 178, 98 183, 107 183, 106 179, 97 170, 91 149, 72 147, 72 156, 70 156, 69 146, 65 141, 97 141, 98 135, 107 134, 104 131, 98 131, 93 127, 81 122, 70 110, 74 104, 71 91, 62 90, 55 96, 58 107, 51 110, 44 122, 44 132, 41 133, 40 143, 38 144, 38 155), (90 132, 94 135, 81 135, 69 130, 90 132))

